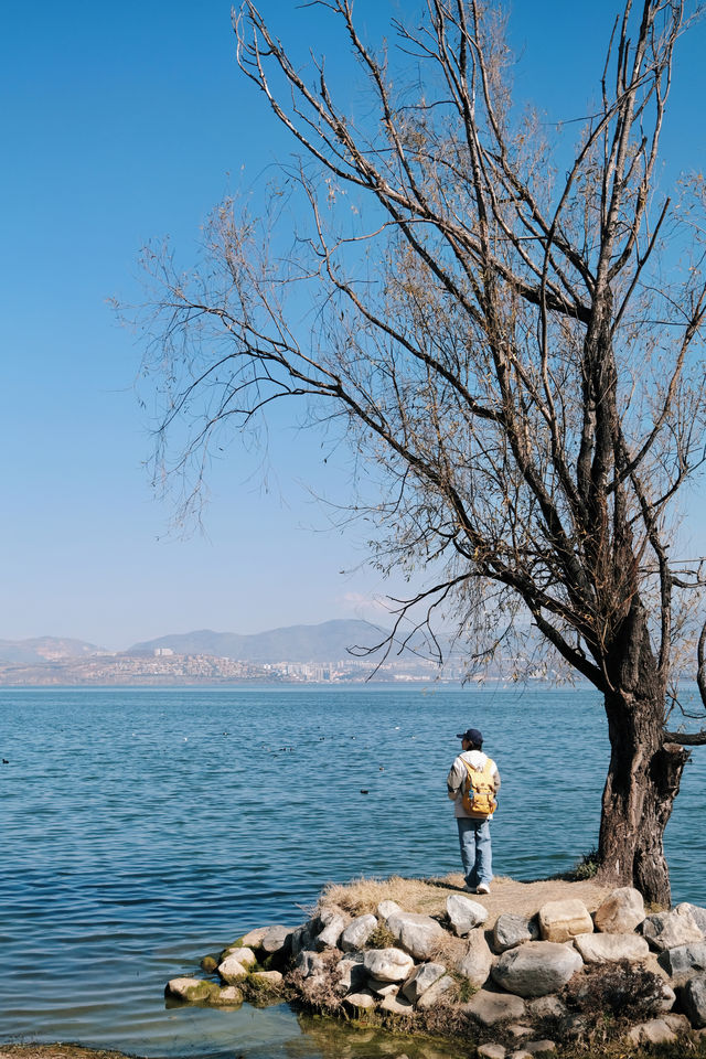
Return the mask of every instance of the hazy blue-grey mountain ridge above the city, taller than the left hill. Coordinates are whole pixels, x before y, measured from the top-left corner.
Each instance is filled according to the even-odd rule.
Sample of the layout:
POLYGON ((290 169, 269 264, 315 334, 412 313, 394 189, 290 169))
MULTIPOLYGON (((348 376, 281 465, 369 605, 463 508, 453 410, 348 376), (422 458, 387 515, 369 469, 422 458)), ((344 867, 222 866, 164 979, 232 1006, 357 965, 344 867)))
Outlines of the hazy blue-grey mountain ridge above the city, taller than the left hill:
POLYGON ((318 625, 289 625, 242 635, 236 632, 174 633, 136 643, 126 654, 153 654, 159 648, 169 648, 175 654, 205 654, 242 662, 331 662, 345 659, 352 646, 371 648, 381 642, 387 631, 370 621, 340 619, 318 625))

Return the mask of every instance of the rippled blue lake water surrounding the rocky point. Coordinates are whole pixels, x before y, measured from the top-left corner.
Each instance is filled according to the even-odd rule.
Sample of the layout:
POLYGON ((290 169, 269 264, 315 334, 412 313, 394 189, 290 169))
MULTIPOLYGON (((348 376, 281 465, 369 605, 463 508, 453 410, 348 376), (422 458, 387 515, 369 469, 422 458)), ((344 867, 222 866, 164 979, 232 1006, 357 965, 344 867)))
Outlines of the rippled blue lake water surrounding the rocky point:
MULTIPOLYGON (((460 870, 445 779, 471 725, 503 779, 495 874, 570 868, 608 762, 591 691, 0 689, 0 1040, 378 1053, 287 1005, 167 1007, 164 984, 252 927, 302 922, 328 881, 460 870)), ((706 905, 705 779, 697 748, 667 827, 675 902, 706 905)))

